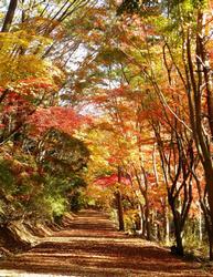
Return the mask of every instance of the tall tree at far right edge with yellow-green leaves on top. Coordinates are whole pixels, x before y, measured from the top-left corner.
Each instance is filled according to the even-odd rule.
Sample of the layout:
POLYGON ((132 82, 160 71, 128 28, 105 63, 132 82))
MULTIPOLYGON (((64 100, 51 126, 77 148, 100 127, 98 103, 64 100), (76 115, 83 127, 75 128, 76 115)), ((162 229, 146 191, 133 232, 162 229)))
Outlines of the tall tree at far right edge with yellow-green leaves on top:
MULTIPOLYGON (((196 151, 205 173, 206 188, 204 191, 207 192, 209 199, 205 208, 209 211, 206 226, 209 226, 210 258, 212 259, 211 10, 211 2, 207 1, 190 3, 189 1, 172 3, 162 1, 153 4, 151 1, 145 3, 123 1, 118 9, 121 13, 130 12, 131 14, 138 14, 143 20, 148 18, 148 22, 152 20, 149 23, 149 28, 147 30, 143 29, 148 34, 145 49, 148 57, 151 58, 146 61, 146 69, 151 70, 151 85, 156 90, 162 105, 167 106, 177 116, 172 106, 168 105, 163 88, 157 79, 157 64, 153 61, 153 57, 150 55, 150 43, 153 47, 155 41, 161 43, 161 58, 164 60, 169 85, 179 86, 188 99, 187 109, 189 111, 190 124, 188 124, 185 119, 183 121, 181 119, 181 121, 183 125, 184 123, 188 124, 190 132, 193 134, 196 151), (149 13, 153 8, 156 11, 149 13), (155 30, 152 35, 149 35, 150 25, 155 30), (178 83, 172 81, 172 75, 174 74, 178 83)), ((161 68, 162 71, 164 69, 161 68)), ((147 75, 147 70, 143 73, 147 75)))

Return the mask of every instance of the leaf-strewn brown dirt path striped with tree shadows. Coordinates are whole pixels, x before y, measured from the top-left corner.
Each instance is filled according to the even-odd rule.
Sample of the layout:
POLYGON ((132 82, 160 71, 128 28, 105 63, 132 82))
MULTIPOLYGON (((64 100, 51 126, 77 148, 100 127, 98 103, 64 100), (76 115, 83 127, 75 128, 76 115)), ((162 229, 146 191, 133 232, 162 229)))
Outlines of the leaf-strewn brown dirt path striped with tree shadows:
POLYGON ((0 260, 4 276, 213 276, 196 263, 185 263, 169 250, 116 230, 106 215, 83 211, 66 228, 33 249, 0 260), (21 270, 21 271, 15 271, 21 270), (23 274, 23 273, 28 274, 23 274))

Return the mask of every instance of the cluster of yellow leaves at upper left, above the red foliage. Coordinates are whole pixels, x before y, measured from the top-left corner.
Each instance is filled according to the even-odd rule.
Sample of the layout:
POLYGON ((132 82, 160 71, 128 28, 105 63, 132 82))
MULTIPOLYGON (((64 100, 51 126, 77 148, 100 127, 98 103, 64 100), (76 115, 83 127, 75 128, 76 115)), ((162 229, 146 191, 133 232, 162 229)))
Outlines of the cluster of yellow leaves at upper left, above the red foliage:
POLYGON ((42 58, 52 40, 25 30, 0 33, 0 86, 30 78, 46 78, 58 84, 64 75, 42 58))

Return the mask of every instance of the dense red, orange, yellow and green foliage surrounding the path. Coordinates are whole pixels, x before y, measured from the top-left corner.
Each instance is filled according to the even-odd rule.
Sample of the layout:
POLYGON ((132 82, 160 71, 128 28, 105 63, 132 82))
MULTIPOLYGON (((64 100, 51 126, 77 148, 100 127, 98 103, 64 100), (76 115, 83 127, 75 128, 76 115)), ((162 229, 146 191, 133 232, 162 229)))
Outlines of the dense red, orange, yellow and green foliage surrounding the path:
POLYGON ((2 226, 107 208, 119 229, 213 259, 212 1, 0 11, 2 226))

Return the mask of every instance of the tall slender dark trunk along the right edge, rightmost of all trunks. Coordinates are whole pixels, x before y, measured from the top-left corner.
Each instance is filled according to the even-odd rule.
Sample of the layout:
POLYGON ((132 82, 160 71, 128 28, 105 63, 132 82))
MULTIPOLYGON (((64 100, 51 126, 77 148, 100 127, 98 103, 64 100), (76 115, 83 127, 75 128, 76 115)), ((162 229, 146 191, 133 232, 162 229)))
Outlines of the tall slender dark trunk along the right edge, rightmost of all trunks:
MULTIPOLYGON (((205 173, 205 182, 206 182, 206 192, 207 192, 207 202, 210 207, 210 218, 206 217, 205 224, 207 227, 207 234, 209 234, 209 246, 210 246, 210 260, 213 260, 213 164, 212 164, 212 154, 210 151, 209 143, 212 143, 213 137, 213 82, 212 82, 212 69, 211 63, 207 54, 207 50, 205 48, 205 20, 206 17, 203 13, 203 10, 200 9, 198 11, 198 34, 196 34, 196 64, 198 64, 198 71, 196 75, 199 76, 200 83, 199 83, 199 93, 193 88, 194 92, 194 103, 195 103, 195 110, 194 113, 196 115, 196 129, 194 130, 198 143, 196 147, 202 155, 202 164, 205 173), (203 78, 203 82, 202 81, 203 78), (209 120, 209 126, 211 131, 211 142, 205 136, 205 132, 203 132, 203 125, 202 125, 202 105, 201 105, 201 84, 205 85, 205 93, 206 93, 206 103, 207 103, 207 120, 209 120)), ((190 42, 188 42, 190 48, 190 42)), ((189 53, 190 54, 190 53, 189 53)), ((190 57, 190 60, 192 58, 190 57)), ((193 72, 193 69, 191 69, 191 72, 193 72)), ((192 82, 192 85, 194 83, 194 80, 192 82)), ((193 127, 194 129, 194 127, 193 127)))

